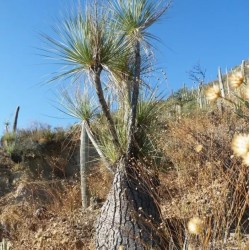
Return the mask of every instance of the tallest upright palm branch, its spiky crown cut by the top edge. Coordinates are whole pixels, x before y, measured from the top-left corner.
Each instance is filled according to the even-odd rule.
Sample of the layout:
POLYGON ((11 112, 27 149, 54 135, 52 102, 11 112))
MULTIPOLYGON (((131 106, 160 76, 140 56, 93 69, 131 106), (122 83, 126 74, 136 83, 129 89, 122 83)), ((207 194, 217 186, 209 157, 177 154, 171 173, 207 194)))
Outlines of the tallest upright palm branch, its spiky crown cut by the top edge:
POLYGON ((109 1, 114 11, 114 20, 119 30, 131 48, 131 60, 134 65, 132 87, 128 88, 131 97, 130 115, 128 121, 127 157, 131 158, 136 144, 134 134, 136 131, 136 114, 139 97, 142 71, 142 53, 150 53, 150 39, 154 36, 147 29, 157 22, 169 8, 171 1, 153 0, 115 0, 109 1), (143 50, 142 50, 143 49, 143 50))

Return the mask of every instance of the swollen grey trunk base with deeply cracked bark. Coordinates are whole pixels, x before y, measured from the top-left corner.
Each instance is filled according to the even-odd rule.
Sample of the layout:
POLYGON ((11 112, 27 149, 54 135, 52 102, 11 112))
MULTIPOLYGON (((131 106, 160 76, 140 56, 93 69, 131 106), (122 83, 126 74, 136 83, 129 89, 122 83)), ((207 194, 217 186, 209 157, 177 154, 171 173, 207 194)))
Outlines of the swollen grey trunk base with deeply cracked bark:
MULTIPOLYGON (((160 229, 160 211, 149 183, 138 168, 122 159, 96 228, 97 250, 167 249, 160 229)), ((145 169, 144 169, 145 170, 145 169)))

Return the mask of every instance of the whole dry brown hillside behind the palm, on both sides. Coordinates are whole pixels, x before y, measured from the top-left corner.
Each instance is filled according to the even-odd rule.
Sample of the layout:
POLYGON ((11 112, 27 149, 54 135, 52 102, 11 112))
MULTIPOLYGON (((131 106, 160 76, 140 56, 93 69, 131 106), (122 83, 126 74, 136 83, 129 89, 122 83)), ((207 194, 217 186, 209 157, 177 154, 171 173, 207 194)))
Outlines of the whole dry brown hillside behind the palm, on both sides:
MULTIPOLYGON (((245 82, 248 68, 246 62, 245 82)), ((188 249, 248 249, 249 142, 240 145, 247 147, 246 158, 232 142, 249 131, 249 90, 244 84, 228 89, 230 77, 241 70, 239 66, 223 75, 225 97, 217 96, 203 107, 198 90, 188 89, 159 104, 163 107, 154 133, 160 152, 152 162, 158 180, 154 188, 162 232, 178 249, 185 244, 188 249), (195 221, 191 230, 190 219, 195 221)), ((204 98, 213 84, 219 83, 203 86, 204 98)), ((88 208, 83 210, 79 129, 40 125, 3 135, 0 249, 95 249, 95 221, 113 175, 89 143, 88 208)))

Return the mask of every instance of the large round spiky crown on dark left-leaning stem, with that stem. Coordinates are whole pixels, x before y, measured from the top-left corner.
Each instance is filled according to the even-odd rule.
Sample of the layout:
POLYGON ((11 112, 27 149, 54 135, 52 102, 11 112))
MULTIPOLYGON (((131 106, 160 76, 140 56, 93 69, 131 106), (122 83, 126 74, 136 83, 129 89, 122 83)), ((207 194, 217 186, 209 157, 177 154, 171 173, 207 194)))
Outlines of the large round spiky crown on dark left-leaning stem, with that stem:
POLYGON ((51 81, 58 78, 73 77, 75 80, 82 75, 93 84, 96 94, 107 119, 112 141, 116 150, 120 150, 115 124, 104 97, 101 83, 102 72, 120 74, 125 71, 124 56, 127 54, 126 44, 115 32, 115 26, 109 22, 110 12, 96 9, 78 12, 76 17, 63 21, 60 29, 56 30, 56 39, 44 36, 49 43, 53 59, 63 63, 63 71, 54 76, 51 81))

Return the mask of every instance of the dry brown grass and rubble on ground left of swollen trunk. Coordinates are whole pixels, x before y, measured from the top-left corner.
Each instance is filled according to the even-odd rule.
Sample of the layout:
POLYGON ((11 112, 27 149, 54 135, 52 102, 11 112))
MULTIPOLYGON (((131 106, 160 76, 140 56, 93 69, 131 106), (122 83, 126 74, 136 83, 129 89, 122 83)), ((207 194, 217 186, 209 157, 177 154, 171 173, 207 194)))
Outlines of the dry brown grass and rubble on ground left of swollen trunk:
POLYGON ((98 210, 81 210, 79 182, 27 183, 24 189, 32 195, 18 203, 13 195, 1 199, 0 236, 12 249, 93 249, 98 210))

